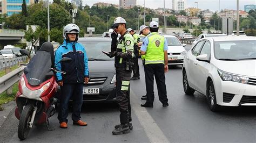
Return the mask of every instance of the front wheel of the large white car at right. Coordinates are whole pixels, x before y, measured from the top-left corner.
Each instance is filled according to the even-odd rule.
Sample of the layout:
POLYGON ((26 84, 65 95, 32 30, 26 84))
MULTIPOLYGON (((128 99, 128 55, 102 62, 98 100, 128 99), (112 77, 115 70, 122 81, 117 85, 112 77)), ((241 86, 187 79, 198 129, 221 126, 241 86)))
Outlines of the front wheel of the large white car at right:
POLYGON ((218 111, 220 106, 217 104, 216 102, 216 94, 215 94, 215 88, 213 85, 213 82, 210 81, 207 85, 207 89, 206 89, 206 93, 207 93, 207 102, 208 102, 208 106, 210 108, 211 111, 218 111))

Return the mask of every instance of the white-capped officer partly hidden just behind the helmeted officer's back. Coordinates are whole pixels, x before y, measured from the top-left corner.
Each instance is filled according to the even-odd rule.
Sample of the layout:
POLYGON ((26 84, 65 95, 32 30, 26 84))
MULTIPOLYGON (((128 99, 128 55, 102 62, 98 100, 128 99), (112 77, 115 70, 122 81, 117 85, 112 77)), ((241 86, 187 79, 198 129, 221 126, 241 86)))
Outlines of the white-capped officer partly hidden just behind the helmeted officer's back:
POLYGON ((138 58, 139 58, 139 49, 138 49, 138 43, 140 40, 139 34, 135 33, 134 30, 132 28, 128 28, 127 31, 132 35, 132 37, 134 38, 134 57, 132 58, 132 72, 133 72, 133 76, 131 78, 131 80, 139 80, 140 79, 140 75, 139 75, 139 63, 138 63, 138 58))

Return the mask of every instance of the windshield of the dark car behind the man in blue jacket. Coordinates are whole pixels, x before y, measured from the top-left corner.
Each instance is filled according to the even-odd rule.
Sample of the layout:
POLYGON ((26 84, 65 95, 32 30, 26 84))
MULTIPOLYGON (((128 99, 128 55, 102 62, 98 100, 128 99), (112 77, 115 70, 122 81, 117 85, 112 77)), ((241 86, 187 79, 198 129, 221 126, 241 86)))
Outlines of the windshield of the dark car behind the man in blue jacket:
POLYGON ((80 41, 84 45, 89 60, 113 60, 102 51, 110 52, 111 41, 80 41))

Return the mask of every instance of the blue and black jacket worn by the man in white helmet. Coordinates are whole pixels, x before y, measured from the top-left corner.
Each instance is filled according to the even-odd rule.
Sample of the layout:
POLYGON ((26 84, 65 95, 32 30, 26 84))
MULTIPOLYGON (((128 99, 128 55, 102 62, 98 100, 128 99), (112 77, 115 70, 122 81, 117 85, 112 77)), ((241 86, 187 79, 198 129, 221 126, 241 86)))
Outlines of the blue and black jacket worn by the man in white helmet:
POLYGON ((72 60, 56 65, 58 70, 66 71, 66 75, 56 73, 57 82, 83 83, 84 77, 89 77, 88 58, 84 46, 79 42, 67 42, 64 40, 63 44, 55 52, 55 64, 63 57, 68 57, 72 60))

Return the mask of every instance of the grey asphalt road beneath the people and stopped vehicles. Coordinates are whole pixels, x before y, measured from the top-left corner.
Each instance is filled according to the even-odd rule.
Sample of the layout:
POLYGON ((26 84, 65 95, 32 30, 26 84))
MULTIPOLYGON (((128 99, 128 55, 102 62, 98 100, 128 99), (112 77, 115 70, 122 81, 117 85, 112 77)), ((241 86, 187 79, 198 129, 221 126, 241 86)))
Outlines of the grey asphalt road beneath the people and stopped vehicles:
MULTIPOLYGON (((187 46, 187 49, 190 48, 187 46)), ((141 63, 141 61, 140 61, 141 63)), ((255 142, 256 108, 223 108, 219 112, 208 109, 204 95, 184 94, 181 66, 170 67, 166 73, 166 87, 169 106, 163 108, 155 89, 154 108, 140 107, 140 97, 145 95, 145 77, 140 64, 141 78, 131 81, 131 106, 133 130, 129 134, 112 135, 114 125, 119 123, 116 104, 84 104, 82 119, 88 126, 59 128, 57 115, 50 118, 54 131, 47 131, 44 125, 32 128, 25 142, 255 142)), ((0 127, 0 141, 19 142, 18 120, 14 110, 0 127)))

